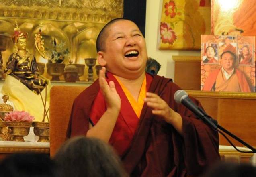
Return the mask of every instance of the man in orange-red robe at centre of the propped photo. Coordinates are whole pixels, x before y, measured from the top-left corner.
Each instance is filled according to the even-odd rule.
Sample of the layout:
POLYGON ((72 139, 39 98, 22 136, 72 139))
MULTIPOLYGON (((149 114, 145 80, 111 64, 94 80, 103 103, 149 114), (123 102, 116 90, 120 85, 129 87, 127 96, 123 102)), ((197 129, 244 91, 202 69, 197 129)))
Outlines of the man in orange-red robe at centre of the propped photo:
POLYGON ((202 90, 251 92, 246 76, 235 67, 236 55, 231 51, 221 54, 221 68, 209 74, 202 90))

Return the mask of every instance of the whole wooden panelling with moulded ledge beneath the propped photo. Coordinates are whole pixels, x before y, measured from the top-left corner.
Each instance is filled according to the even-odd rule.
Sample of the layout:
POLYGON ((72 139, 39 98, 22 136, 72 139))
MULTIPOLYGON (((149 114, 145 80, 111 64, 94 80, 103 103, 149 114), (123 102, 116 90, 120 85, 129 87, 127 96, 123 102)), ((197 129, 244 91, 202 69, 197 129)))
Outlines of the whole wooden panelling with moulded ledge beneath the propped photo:
MULTIPOLYGON (((203 108, 218 120, 218 124, 238 136, 251 146, 256 146, 256 94, 255 93, 221 93, 187 91, 190 96, 197 98, 203 108)), ((219 134, 220 145, 230 145, 219 134)), ((239 142, 230 138, 236 146, 239 142)))

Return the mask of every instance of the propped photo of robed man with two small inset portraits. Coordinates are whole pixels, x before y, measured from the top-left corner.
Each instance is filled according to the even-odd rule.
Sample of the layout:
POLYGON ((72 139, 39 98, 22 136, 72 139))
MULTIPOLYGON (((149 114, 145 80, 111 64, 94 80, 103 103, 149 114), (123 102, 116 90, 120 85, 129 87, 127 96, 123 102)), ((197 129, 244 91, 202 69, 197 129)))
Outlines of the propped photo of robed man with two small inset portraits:
POLYGON ((201 35, 201 90, 255 92, 255 37, 201 35))

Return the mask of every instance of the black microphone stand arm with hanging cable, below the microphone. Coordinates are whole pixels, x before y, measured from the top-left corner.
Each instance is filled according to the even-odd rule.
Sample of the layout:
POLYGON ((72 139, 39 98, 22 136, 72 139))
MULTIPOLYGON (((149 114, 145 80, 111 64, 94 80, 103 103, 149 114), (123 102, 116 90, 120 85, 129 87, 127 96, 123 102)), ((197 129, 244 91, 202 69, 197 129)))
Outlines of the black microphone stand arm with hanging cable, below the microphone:
POLYGON ((242 139, 238 138, 236 135, 232 134, 231 132, 229 132, 228 130, 226 130, 225 128, 223 128, 222 126, 220 126, 217 122, 217 120, 213 119, 211 116, 207 115, 205 113, 205 111, 198 107, 199 110, 201 110, 201 112, 203 112, 206 116, 203 116, 200 117, 200 116, 197 116, 199 117, 201 120, 203 120, 203 122, 207 123, 211 128, 213 128, 214 130, 222 130, 223 132, 225 132, 226 134, 228 134, 229 136, 231 136, 232 138, 234 138, 235 140, 237 140, 238 142, 240 142, 241 144, 243 144, 244 146, 248 147, 248 149, 252 150, 251 151, 240 151, 236 148, 235 145, 233 145, 233 143, 223 134, 223 132, 217 130, 219 133, 221 133, 226 139, 227 141, 239 152, 242 152, 242 153, 256 153, 256 149, 252 146, 250 146, 248 143, 244 142, 242 139))

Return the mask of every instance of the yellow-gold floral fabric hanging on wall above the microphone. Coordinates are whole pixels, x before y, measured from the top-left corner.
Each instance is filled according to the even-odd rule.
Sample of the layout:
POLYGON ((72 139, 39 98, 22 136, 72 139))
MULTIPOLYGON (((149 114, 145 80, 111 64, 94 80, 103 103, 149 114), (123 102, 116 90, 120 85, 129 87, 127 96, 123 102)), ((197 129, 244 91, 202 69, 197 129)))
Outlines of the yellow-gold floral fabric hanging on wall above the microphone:
POLYGON ((163 0, 159 49, 200 49, 200 35, 210 34, 210 0, 163 0))

